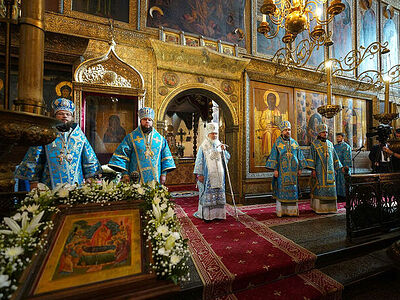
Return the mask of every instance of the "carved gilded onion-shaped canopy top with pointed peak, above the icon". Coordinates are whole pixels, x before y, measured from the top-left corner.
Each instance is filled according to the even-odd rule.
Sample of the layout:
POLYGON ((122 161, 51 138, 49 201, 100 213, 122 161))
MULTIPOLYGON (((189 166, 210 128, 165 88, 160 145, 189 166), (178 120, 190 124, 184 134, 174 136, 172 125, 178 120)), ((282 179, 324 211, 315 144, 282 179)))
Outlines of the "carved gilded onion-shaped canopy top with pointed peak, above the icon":
POLYGON ((75 71, 78 90, 116 93, 142 98, 145 95, 142 75, 115 53, 113 42, 107 53, 81 63, 75 71))

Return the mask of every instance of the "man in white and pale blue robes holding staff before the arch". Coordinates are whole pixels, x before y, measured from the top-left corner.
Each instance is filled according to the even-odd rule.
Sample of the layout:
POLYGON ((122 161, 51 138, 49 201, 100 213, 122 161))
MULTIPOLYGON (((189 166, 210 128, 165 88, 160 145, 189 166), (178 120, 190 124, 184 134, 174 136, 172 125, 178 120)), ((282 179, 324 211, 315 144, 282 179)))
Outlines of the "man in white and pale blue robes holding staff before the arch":
POLYGON ((206 125, 207 137, 199 147, 193 173, 199 188, 199 206, 194 216, 206 221, 225 219, 225 163, 230 159, 218 140, 218 124, 206 125), (225 161, 224 161, 225 160, 225 161))

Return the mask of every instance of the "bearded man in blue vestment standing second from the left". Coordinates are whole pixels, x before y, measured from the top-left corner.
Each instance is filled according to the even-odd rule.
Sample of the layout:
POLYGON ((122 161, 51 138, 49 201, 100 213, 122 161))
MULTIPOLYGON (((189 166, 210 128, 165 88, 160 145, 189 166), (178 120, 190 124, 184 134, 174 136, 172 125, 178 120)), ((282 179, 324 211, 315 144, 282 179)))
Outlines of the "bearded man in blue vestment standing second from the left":
POLYGON ((140 125, 128 134, 115 150, 108 166, 121 171, 123 180, 129 181, 134 172, 141 183, 165 183, 167 173, 174 170, 175 162, 166 139, 153 128, 154 110, 139 110, 140 125))

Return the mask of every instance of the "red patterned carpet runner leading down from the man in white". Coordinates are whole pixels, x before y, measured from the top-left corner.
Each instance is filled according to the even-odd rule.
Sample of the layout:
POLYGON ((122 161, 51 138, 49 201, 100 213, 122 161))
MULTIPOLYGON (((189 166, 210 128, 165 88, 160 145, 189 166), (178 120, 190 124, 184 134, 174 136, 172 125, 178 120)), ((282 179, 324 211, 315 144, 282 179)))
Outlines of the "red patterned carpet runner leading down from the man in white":
MULTIPOLYGON (((226 220, 205 223, 193 217, 197 210, 197 197, 175 201, 182 234, 189 239, 193 261, 205 286, 204 299, 256 299, 258 293, 262 297, 275 286, 282 291, 298 289, 298 295, 303 294, 309 299, 322 298, 328 293, 327 287, 336 291, 333 294, 340 295, 341 285, 320 272, 319 277, 311 272, 311 279, 306 275, 304 278, 296 276, 312 270, 316 256, 276 233, 261 220, 241 213, 239 221, 236 221, 233 208, 227 206, 226 220), (324 285, 325 282, 329 284, 324 285), (250 289, 255 286, 258 287, 250 289)), ((280 299, 295 298, 288 294, 280 299)))

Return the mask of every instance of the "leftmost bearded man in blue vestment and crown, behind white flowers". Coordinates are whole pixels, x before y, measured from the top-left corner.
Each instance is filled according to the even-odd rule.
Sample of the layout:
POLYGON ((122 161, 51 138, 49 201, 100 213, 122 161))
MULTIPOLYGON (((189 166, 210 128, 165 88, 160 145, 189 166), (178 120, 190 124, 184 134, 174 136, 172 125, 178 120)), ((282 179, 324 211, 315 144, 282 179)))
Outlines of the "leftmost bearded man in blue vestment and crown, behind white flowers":
POLYGON ((78 124, 72 123, 75 105, 71 100, 53 101, 55 117, 64 123, 57 138, 45 146, 29 148, 15 177, 29 180, 31 189, 38 182, 55 188, 58 184, 82 184, 85 178, 101 173, 101 165, 78 124))

